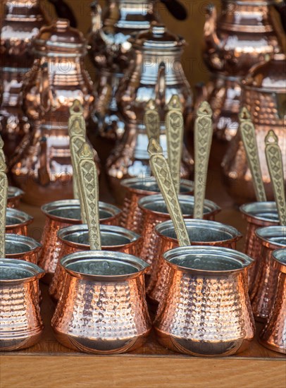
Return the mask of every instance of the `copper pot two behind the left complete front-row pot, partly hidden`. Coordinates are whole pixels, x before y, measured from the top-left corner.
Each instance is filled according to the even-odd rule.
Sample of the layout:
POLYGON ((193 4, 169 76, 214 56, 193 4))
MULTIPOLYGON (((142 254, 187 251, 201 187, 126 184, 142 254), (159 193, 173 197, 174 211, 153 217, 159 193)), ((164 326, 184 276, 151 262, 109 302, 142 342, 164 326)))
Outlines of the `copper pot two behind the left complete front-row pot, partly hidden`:
MULTIPOLYGON (((66 226, 81 224, 80 201, 61 200, 42 206, 46 216, 42 234, 42 255, 39 257, 39 267, 46 272, 44 280, 50 283, 56 269, 56 263, 61 252, 61 241, 58 231, 66 226)), ((99 202, 100 222, 106 225, 118 225, 120 210, 118 207, 99 202)))

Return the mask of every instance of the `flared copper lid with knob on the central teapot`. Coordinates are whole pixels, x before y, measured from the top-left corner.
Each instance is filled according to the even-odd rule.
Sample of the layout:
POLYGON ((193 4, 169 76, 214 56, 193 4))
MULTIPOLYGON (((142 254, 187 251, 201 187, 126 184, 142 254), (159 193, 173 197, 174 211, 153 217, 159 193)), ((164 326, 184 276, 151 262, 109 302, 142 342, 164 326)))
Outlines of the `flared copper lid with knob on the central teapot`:
POLYGON ((183 37, 168 31, 163 23, 152 22, 149 30, 139 32, 129 40, 134 47, 147 49, 173 49, 185 44, 183 37))

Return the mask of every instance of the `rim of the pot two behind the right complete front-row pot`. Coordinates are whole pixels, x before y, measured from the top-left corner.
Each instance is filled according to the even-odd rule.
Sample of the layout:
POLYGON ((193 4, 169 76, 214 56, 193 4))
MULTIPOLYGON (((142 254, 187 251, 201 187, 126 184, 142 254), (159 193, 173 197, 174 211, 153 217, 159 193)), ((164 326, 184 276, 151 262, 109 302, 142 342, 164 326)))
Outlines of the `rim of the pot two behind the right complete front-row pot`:
MULTIPOLYGON (((179 194, 178 198, 179 198, 180 203, 187 203, 187 204, 194 205, 194 196, 193 195, 179 194)), ((150 212, 153 214, 158 214, 160 216, 165 215, 167 217, 170 217, 168 211, 166 213, 157 212, 156 210, 151 210, 151 209, 148 209, 146 207, 146 205, 153 204, 154 202, 158 202, 158 203, 163 202, 164 205, 166 204, 165 200, 163 199, 163 195, 156 194, 156 195, 147 195, 146 197, 141 198, 138 201, 138 206, 143 212, 150 212)), ((211 214, 212 215, 217 214, 221 210, 220 207, 218 205, 216 205, 216 203, 211 201, 211 200, 204 200, 204 207, 209 207, 209 211, 204 212, 204 216, 211 215, 211 214)), ((183 215, 184 215, 184 217, 185 216, 192 217, 193 214, 183 214, 183 215)))

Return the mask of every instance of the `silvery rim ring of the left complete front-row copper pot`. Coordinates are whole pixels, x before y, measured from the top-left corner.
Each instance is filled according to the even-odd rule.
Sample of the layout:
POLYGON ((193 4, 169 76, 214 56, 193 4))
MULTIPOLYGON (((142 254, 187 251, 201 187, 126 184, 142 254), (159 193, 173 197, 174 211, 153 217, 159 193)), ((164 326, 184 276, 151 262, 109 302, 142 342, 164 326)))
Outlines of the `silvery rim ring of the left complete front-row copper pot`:
POLYGON ((136 257, 134 255, 128 255, 127 253, 121 252, 112 252, 111 250, 83 250, 76 253, 71 253, 61 258, 60 265, 68 274, 72 277, 77 277, 78 279, 83 279, 87 281, 98 281, 98 282, 118 282, 125 281, 128 279, 135 279, 147 272, 149 264, 144 260, 136 257), (137 268, 137 272, 132 272, 130 274, 120 274, 120 275, 99 275, 99 274, 85 274, 82 272, 77 272, 73 269, 69 269, 66 265, 72 264, 74 262, 80 262, 83 259, 90 261, 104 260, 104 258, 109 260, 115 260, 118 262, 125 262, 132 267, 137 268))

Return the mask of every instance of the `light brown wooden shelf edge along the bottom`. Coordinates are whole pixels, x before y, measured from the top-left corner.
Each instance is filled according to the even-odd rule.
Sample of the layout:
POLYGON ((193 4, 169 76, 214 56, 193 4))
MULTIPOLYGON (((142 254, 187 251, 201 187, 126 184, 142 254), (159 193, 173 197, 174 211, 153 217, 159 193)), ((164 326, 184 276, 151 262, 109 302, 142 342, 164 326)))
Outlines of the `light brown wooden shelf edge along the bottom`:
POLYGON ((285 359, 0 356, 0 387, 284 387, 285 370, 285 359))

